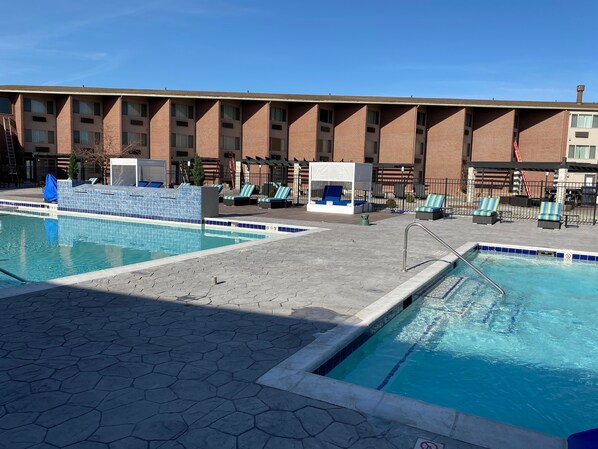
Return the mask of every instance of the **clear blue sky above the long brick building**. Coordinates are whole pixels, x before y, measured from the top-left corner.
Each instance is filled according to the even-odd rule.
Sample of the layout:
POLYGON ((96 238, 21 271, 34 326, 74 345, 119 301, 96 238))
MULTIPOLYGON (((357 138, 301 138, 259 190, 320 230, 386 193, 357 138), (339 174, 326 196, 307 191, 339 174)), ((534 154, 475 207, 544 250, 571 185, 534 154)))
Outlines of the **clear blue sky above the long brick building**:
POLYGON ((598 102, 595 0, 20 1, 0 84, 598 102))

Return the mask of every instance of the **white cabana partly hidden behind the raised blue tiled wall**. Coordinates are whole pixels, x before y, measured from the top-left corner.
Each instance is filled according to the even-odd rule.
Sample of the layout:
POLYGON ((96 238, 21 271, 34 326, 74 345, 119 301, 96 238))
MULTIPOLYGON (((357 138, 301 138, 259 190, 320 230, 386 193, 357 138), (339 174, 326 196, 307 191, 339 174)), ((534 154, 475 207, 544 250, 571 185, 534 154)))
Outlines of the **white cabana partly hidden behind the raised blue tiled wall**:
POLYGON ((137 158, 110 158, 110 184, 137 186, 139 181, 166 183, 166 161, 137 158))

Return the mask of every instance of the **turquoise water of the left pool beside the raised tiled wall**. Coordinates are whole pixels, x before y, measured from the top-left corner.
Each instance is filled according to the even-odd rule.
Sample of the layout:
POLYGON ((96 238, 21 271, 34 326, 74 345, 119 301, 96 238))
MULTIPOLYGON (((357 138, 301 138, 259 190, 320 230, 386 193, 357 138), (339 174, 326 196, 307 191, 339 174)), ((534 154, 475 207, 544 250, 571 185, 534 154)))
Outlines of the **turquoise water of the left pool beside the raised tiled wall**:
MULTIPOLYGON (((0 214, 0 268, 29 282, 219 248, 266 234, 60 216, 0 214)), ((22 285, 0 273, 0 288, 22 285)))

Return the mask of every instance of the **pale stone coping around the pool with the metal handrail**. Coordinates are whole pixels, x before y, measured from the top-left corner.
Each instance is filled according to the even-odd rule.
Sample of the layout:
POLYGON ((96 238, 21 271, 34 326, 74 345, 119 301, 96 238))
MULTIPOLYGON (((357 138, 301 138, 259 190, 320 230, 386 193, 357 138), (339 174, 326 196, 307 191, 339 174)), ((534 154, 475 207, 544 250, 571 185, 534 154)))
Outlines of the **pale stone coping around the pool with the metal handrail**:
MULTIPOLYGON (((481 245, 492 244, 468 242, 457 248, 457 252, 466 255, 481 245)), ((515 245, 492 246, 523 248, 515 245)), ((434 262, 276 365, 257 382, 487 448, 566 448, 566 440, 560 437, 313 373, 385 314, 393 309, 402 309, 404 301, 429 288, 457 261, 456 255, 448 254, 434 262)), ((410 301, 405 304, 410 304, 410 301)))

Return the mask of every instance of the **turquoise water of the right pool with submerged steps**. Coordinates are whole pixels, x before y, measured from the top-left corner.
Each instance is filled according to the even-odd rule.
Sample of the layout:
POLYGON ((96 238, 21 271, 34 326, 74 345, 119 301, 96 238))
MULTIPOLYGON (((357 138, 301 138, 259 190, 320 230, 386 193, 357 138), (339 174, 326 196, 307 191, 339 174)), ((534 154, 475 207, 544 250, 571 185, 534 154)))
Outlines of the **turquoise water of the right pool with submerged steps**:
POLYGON ((598 265, 479 253, 328 376, 566 437, 598 427, 598 265))

